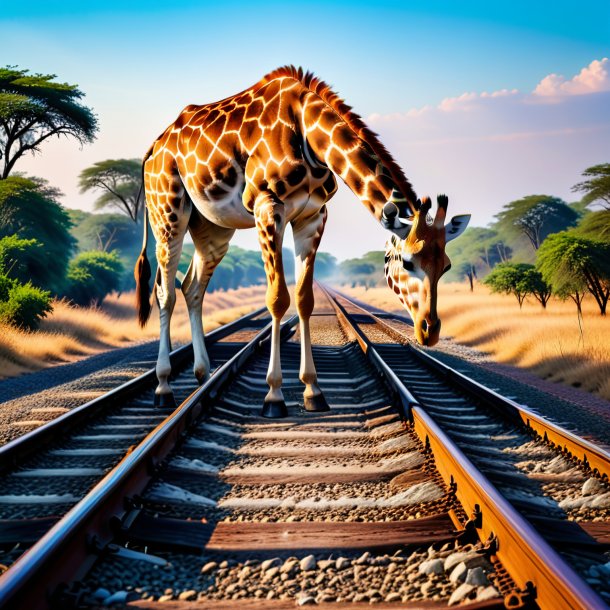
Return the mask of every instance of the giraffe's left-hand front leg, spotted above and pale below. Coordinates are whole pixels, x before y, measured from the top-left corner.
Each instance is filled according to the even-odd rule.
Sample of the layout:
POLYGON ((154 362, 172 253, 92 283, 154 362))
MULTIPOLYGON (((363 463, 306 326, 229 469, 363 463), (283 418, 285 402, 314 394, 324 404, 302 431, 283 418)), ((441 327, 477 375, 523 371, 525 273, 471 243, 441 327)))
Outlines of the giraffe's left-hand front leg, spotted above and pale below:
POLYGON ((271 357, 267 372, 269 392, 265 397, 263 417, 285 417, 288 414, 282 393, 280 362, 280 323, 290 305, 282 263, 284 238, 284 204, 272 193, 260 193, 254 203, 254 218, 267 275, 266 303, 271 313, 271 357))

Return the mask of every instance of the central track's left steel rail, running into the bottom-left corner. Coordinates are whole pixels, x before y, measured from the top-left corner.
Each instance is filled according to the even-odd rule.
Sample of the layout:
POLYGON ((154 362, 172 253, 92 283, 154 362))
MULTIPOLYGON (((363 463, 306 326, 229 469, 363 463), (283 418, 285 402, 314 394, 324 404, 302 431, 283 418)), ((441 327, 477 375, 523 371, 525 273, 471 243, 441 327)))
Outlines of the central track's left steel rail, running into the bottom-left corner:
MULTIPOLYGON (((284 322, 285 338, 296 316, 284 322)), ((36 544, 0 576, 0 605, 15 610, 68 607, 68 583, 84 575, 105 552, 158 465, 181 441, 187 428, 209 408, 250 356, 268 340, 269 322, 248 344, 220 366, 175 411, 135 446, 98 484, 36 544)), ((77 596, 77 594, 75 594, 77 596)))

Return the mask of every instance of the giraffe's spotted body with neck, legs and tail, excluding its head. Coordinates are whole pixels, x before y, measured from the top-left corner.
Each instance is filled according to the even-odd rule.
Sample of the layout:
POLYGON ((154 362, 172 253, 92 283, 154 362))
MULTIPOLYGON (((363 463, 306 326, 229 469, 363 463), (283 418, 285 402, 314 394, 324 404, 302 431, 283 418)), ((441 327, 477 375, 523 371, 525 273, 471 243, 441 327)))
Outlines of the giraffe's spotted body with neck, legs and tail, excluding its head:
MULTIPOLYGON (((324 81, 293 66, 278 68, 219 102, 187 106, 153 143, 143 160, 143 185, 158 262, 154 282, 160 312, 158 404, 173 403, 168 383, 169 330, 186 232, 193 239, 195 254, 182 292, 191 324, 194 373, 203 383, 210 374, 201 311, 206 287, 234 232, 255 227, 272 319, 269 391, 262 415, 287 415, 279 331, 290 304, 282 262, 284 230, 290 223, 304 407, 328 410, 312 357, 309 320, 314 307, 314 261, 324 232, 326 204, 337 190, 335 176, 386 229, 404 238, 410 220, 417 226, 421 202, 377 136, 324 81)), ((144 225, 142 253, 135 268, 142 326, 151 310, 146 219, 144 225)), ((444 256, 440 242, 437 254, 444 256)))

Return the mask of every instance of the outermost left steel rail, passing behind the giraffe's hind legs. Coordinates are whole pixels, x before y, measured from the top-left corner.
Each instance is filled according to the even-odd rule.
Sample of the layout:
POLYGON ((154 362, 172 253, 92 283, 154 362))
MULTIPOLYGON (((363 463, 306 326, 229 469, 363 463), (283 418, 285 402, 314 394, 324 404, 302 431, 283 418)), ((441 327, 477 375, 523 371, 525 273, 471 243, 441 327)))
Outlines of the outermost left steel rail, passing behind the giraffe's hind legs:
MULTIPOLYGON (((223 326, 214 329, 206 335, 207 341, 209 343, 216 343, 221 339, 228 337, 266 310, 266 307, 261 307, 237 320, 233 320, 233 322, 229 322, 228 324, 224 324, 223 326)), ((174 350, 170 354, 172 369, 175 370, 176 368, 183 366, 186 361, 192 358, 192 355, 192 343, 183 345, 174 350)), ((23 459, 40 451, 41 447, 50 442, 56 441, 59 435, 63 435, 74 429, 90 417, 97 415, 100 411, 113 407, 144 391, 149 386, 154 385, 156 381, 155 369, 152 368, 146 373, 142 373, 141 375, 138 375, 138 377, 113 388, 109 392, 75 407, 74 409, 70 409, 67 413, 63 413, 59 417, 43 424, 35 430, 9 441, 0 447, 0 474, 13 470, 23 461, 23 459)))

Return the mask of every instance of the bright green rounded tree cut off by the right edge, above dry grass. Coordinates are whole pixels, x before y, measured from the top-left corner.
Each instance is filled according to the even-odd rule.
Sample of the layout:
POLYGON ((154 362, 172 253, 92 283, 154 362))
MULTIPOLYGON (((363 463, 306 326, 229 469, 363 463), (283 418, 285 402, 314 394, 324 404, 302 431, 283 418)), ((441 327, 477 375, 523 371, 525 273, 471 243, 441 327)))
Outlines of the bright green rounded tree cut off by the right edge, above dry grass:
POLYGON ((610 243, 578 236, 574 231, 549 235, 538 250, 537 266, 553 292, 571 297, 582 313, 578 294, 590 292, 606 315, 610 298, 610 243), (576 296, 575 296, 576 295, 576 296))

